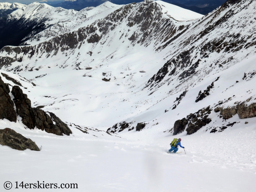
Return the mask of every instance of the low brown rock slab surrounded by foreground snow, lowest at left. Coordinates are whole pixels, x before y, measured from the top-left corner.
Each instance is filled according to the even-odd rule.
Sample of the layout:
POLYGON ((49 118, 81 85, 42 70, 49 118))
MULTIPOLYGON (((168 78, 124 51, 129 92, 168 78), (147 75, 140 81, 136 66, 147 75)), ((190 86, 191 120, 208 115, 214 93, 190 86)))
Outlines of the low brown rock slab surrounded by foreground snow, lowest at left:
POLYGON ((17 150, 31 149, 33 151, 40 151, 34 141, 23 137, 20 133, 10 128, 0 129, 0 144, 17 150))

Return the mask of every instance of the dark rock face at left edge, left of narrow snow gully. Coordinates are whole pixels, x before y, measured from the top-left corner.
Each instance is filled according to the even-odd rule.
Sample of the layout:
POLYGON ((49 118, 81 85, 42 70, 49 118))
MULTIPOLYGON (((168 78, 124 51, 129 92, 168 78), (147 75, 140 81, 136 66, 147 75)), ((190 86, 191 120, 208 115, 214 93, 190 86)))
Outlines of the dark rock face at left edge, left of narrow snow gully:
POLYGON ((0 76, 0 118, 15 122, 17 116, 9 93, 10 89, 8 84, 5 84, 0 76))

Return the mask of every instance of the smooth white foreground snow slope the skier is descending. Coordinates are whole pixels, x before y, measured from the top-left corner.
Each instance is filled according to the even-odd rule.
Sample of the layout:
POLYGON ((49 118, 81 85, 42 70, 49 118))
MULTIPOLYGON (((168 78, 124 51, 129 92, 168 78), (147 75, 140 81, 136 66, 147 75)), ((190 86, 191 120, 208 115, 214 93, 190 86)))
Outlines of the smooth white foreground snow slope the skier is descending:
MULTIPOLYGON (((174 136, 166 136, 159 129, 117 135, 121 137, 95 137, 75 128, 71 136, 21 127, 15 130, 42 148, 37 152, 0 146, 1 183, 8 180, 13 186, 16 181, 24 184, 44 181, 58 186, 77 183, 78 189, 37 190, 90 192, 250 192, 256 188, 256 129, 250 126, 243 128, 243 132, 236 129, 214 133, 214 137, 205 133, 204 137, 200 133, 178 135, 186 154, 181 148, 180 154, 166 153, 174 136), (241 139, 244 143, 239 143, 241 139)), ((11 189, 27 190, 36 191, 11 189)))

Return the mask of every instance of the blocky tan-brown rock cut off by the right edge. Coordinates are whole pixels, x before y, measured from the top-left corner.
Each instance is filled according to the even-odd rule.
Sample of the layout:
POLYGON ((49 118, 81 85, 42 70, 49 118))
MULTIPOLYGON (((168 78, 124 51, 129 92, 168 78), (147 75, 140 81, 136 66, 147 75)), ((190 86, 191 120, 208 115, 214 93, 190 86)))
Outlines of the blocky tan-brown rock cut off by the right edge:
POLYGON ((240 119, 251 118, 256 116, 256 103, 247 106, 244 103, 236 106, 236 112, 240 119))

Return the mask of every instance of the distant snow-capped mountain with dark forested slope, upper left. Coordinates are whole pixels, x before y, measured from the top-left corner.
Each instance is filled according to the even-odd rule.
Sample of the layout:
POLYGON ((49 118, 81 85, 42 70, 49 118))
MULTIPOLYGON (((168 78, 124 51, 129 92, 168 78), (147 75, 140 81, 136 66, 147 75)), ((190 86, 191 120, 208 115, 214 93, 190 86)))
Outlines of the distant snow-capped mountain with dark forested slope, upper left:
MULTIPOLYGON (((0 17, 0 47, 19 45, 28 38, 61 21, 74 17, 77 11, 52 7, 44 3, 31 3, 20 7, 12 13, 0 17)), ((12 4, 12 6, 14 6, 12 4)), ((10 6, 11 7, 11 6, 10 6)))

